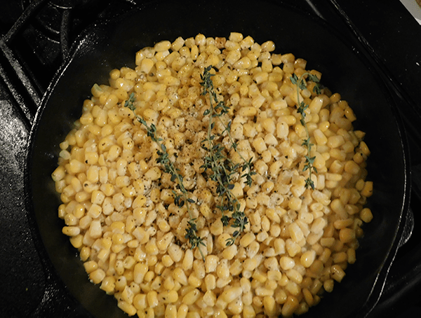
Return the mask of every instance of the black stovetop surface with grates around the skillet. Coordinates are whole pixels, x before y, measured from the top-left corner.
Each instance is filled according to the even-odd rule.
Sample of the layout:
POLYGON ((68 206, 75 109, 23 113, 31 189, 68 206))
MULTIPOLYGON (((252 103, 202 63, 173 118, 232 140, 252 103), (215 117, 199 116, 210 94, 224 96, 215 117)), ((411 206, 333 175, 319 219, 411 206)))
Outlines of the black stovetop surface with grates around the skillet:
MULTIPOLYGON (((23 184, 27 139, 36 106, 72 41, 95 18, 119 15, 144 1, 4 1, 0 12, 0 317, 86 317, 48 261, 23 184), (20 23, 29 13, 30 22, 20 23), (18 61, 14 63, 13 61, 18 61), (21 69, 20 69, 21 68, 21 69), (39 76, 42 74, 42 76, 39 76), (25 89, 26 88, 26 89, 25 89), (29 89, 28 89, 29 88, 29 89)), ((291 1, 319 15, 366 50, 385 78, 404 119, 410 145, 413 219, 384 296, 370 317, 421 312, 421 26, 400 1, 291 1), (338 11, 339 8, 339 11, 338 11), (339 14, 339 13, 340 14, 339 14)), ((389 282, 389 281, 388 281, 389 282)))

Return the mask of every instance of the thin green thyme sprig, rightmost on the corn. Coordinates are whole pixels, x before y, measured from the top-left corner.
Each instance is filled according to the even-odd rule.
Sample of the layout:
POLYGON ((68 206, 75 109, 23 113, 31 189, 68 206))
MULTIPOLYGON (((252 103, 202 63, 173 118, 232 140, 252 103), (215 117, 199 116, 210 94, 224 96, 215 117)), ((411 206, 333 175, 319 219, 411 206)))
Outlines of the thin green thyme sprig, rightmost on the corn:
POLYGON ((309 170, 309 177, 305 180, 305 187, 306 188, 312 188, 314 190, 314 181, 312 180, 312 172, 317 173, 316 167, 314 167, 314 159, 316 159, 315 156, 311 156, 312 153, 312 142, 310 141, 310 134, 309 134, 309 128, 307 127, 307 123, 305 122, 305 110, 309 107, 308 104, 305 104, 305 102, 300 102, 300 90, 305 90, 307 88, 307 83, 305 82, 305 76, 308 77, 309 81, 312 81, 315 85, 313 88, 313 91, 316 92, 316 94, 321 93, 321 89, 323 88, 323 85, 321 85, 319 78, 314 75, 310 74, 308 72, 305 72, 298 78, 297 74, 293 74, 293 76, 290 77, 291 83, 293 83, 297 87, 297 102, 298 102, 298 108, 297 111, 300 113, 300 123, 304 126, 305 132, 307 134, 307 138, 302 141, 302 146, 305 146, 307 148, 307 155, 305 155, 305 166, 303 168, 303 172, 306 170, 309 170))

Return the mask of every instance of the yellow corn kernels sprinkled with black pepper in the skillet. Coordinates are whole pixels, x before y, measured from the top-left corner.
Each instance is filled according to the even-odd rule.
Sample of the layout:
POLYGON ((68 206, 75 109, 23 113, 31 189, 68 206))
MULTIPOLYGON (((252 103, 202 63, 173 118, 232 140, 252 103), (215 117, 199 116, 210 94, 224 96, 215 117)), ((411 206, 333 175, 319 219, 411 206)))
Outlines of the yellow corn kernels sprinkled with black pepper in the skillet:
MULTIPOLYGON (((138 317, 284 317, 302 314, 333 291, 356 261, 361 226, 373 218, 364 207, 373 192, 366 181, 370 154, 364 133, 354 131, 351 107, 327 88, 308 82, 297 97, 290 76, 307 62, 274 53, 232 32, 228 39, 197 34, 161 41, 135 56, 135 67, 113 69, 60 144, 52 177, 58 209, 89 279, 138 317), (248 218, 235 244, 223 226, 215 190, 203 174, 209 107, 201 74, 213 66, 213 85, 229 106, 231 137, 253 158, 253 183, 240 174, 233 193, 248 218), (186 206, 175 205, 175 182, 156 162, 159 147, 135 113, 124 107, 131 93, 135 113, 156 126, 192 202, 189 207, 205 246, 185 238, 186 206), (307 137, 312 141, 314 189, 305 186, 307 137)), ((321 78, 318 71, 308 71, 321 78)), ((227 144, 222 125, 215 134, 227 144)))

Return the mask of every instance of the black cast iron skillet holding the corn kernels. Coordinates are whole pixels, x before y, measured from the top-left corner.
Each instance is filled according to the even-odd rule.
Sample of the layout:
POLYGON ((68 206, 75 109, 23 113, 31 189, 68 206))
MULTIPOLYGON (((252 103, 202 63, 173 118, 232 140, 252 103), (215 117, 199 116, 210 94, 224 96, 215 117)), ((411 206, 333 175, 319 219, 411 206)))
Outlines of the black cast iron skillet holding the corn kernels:
POLYGON ((93 83, 107 83, 111 69, 134 67, 140 48, 198 33, 228 37, 229 32, 241 32, 258 43, 272 40, 278 53, 294 53, 308 61, 307 68, 321 71, 323 84, 353 107, 355 128, 367 133, 372 153, 368 179, 374 181, 375 191, 368 204, 374 219, 363 228, 357 262, 349 265, 345 279, 302 317, 364 317, 380 297, 401 238, 409 190, 403 132, 392 99, 366 58, 333 27, 280 3, 262 1, 255 6, 255 1, 218 0, 183 8, 178 2, 157 1, 94 25, 79 38, 48 88, 30 135, 29 198, 51 262, 87 315, 126 316, 112 296, 88 282, 76 250, 61 233, 60 201, 51 181, 58 144, 79 118, 93 83))

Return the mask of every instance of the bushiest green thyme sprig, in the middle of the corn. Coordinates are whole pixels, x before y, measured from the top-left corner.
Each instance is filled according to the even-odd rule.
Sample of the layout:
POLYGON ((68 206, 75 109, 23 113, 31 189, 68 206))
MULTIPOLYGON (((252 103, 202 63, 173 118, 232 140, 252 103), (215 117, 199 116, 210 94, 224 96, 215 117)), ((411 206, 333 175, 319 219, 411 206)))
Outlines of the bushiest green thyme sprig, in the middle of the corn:
POLYGON ((215 92, 211 78, 214 75, 210 73, 211 68, 211 66, 206 67, 201 75, 201 85, 203 86, 202 95, 209 95, 210 104, 209 108, 203 112, 203 116, 209 116, 209 123, 206 139, 201 143, 201 147, 207 151, 202 167, 205 171, 210 170, 209 178, 217 183, 216 192, 218 193, 218 198, 220 198, 220 204, 217 205, 217 208, 220 209, 222 213, 222 224, 224 226, 229 225, 230 219, 226 214, 227 212, 231 212, 231 219, 234 220, 231 226, 232 228, 236 228, 236 230, 232 233, 232 237, 227 239, 226 243, 227 246, 230 246, 234 244, 236 238, 241 235, 248 223, 246 214, 244 214, 244 211, 241 211, 239 200, 232 193, 232 190, 234 189, 233 177, 241 168, 241 171, 243 172, 241 178, 246 178, 246 184, 251 186, 253 181, 251 176, 255 174, 255 172, 253 171, 253 158, 246 160, 237 150, 236 142, 232 139, 230 134, 232 122, 229 121, 229 123, 225 125, 222 121, 221 116, 228 113, 229 107, 225 102, 218 100, 218 95, 215 92), (213 127, 215 127, 215 119, 220 120, 220 123, 222 123, 222 127, 224 128, 222 135, 225 133, 227 134, 231 142, 231 147, 239 154, 241 160, 243 160, 242 165, 238 163, 234 164, 223 152, 225 147, 222 146, 220 142, 216 142, 220 136, 216 136, 212 133, 213 127))

